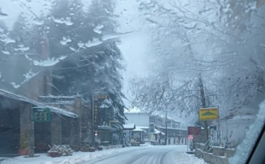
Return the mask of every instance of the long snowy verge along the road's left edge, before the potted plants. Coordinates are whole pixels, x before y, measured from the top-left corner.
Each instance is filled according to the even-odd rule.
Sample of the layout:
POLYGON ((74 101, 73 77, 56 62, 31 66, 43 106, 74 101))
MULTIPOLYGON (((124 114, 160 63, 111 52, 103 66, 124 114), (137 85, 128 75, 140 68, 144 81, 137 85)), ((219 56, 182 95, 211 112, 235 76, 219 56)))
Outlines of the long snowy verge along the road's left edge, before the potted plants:
MULTIPOLYGON (((115 153, 135 150, 135 149, 145 149, 154 147, 153 145, 145 144, 140 147, 125 147, 125 148, 113 148, 103 151, 96 152, 74 152, 72 156, 61 156, 61 157, 49 157, 47 154, 35 154, 38 157, 25 158, 23 156, 8 158, 1 162, 1 164, 77 164, 81 162, 89 161, 90 159, 100 158, 106 155, 111 155, 115 153)), ((159 147, 159 146, 156 146, 159 147)))

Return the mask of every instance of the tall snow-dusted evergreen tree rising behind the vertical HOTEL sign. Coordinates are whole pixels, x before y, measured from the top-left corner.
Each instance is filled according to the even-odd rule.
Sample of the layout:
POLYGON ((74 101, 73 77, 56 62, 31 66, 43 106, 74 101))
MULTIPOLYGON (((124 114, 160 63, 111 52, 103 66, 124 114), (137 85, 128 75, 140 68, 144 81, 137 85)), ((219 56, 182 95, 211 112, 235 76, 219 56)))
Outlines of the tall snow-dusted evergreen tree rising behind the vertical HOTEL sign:
MULTIPOLYGON (((74 4, 76 5, 78 2, 76 0, 69 1, 68 6, 56 7, 53 9, 55 14, 51 15, 57 16, 57 19, 62 17, 66 19, 68 11, 73 8, 74 4), (59 13, 60 16, 56 13, 59 13)), ((114 7, 115 4, 112 1, 93 1, 89 6, 88 13, 83 12, 81 7, 72 9, 71 12, 79 13, 79 15, 75 14, 74 18, 71 17, 73 25, 69 28, 71 29, 69 33, 67 33, 68 27, 65 27, 67 25, 63 23, 57 25, 58 23, 53 22, 50 30, 65 28, 60 31, 66 31, 67 35, 64 35, 66 40, 71 38, 71 41, 68 39, 69 42, 65 46, 58 45, 64 52, 60 52, 60 55, 67 54, 68 57, 53 69, 53 84, 56 87, 53 88, 53 94, 72 95, 78 93, 86 99, 93 94, 95 96, 109 95, 109 100, 100 104, 102 108, 99 108, 99 120, 102 122, 118 120, 120 123, 114 123, 113 126, 119 128, 118 133, 121 134, 122 124, 125 123, 125 105, 122 102, 124 95, 121 92, 122 75, 120 73, 123 69, 122 54, 116 45, 119 40, 106 38, 106 36, 115 34, 117 24, 114 7)), ((50 44, 51 42, 53 41, 50 41, 50 44)), ((58 44, 60 41, 56 42, 58 44)), ((56 55, 52 54, 54 53, 52 47, 50 51, 52 56, 56 55)), ((57 49, 56 52, 58 51, 57 49)))

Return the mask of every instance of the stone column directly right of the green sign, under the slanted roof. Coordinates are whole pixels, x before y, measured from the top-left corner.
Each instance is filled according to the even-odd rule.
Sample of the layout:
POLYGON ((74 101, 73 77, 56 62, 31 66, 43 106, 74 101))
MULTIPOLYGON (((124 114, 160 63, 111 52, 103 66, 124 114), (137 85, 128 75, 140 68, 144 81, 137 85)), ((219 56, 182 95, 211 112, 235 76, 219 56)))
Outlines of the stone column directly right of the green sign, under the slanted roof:
POLYGON ((62 144, 62 118, 51 113, 51 144, 62 144))

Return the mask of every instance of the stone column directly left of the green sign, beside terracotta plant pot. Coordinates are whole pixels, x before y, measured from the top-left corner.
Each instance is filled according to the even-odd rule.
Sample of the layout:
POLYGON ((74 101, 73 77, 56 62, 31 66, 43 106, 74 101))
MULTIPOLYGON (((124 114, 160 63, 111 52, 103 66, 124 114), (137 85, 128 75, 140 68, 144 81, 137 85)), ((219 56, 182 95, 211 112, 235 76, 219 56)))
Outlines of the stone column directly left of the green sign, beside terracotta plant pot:
POLYGON ((20 105, 20 139, 26 139, 27 155, 34 156, 34 122, 31 120, 31 104, 20 105))

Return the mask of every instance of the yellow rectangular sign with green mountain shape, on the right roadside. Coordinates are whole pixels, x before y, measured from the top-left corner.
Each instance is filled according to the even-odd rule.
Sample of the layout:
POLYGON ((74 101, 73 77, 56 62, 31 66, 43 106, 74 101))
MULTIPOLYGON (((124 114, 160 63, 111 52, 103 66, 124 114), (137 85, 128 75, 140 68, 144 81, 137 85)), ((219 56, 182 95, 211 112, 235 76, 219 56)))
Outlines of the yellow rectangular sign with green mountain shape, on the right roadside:
POLYGON ((200 107, 199 108, 199 120, 207 121, 218 119, 218 107, 200 107))

